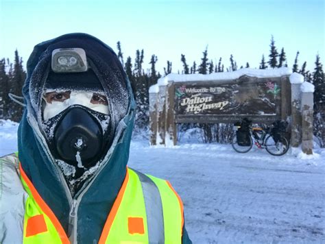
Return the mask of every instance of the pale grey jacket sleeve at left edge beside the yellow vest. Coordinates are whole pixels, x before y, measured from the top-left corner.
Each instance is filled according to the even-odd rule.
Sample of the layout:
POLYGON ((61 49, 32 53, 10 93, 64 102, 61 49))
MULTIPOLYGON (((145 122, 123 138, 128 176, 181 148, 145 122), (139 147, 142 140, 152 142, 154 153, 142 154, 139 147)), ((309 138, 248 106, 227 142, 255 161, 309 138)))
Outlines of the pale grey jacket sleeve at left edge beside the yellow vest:
POLYGON ((23 220, 27 193, 21 184, 18 158, 0 158, 0 243, 23 243, 23 220))

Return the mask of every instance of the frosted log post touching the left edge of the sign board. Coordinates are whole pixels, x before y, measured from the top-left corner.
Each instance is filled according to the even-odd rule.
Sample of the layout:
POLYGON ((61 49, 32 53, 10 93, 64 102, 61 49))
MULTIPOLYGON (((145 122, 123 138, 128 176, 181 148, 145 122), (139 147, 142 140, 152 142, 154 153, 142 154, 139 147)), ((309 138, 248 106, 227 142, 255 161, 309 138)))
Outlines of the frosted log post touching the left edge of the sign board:
POLYGON ((177 143, 177 128, 175 123, 175 86, 173 82, 170 82, 167 87, 166 94, 166 137, 165 145, 166 146, 175 146, 177 143))

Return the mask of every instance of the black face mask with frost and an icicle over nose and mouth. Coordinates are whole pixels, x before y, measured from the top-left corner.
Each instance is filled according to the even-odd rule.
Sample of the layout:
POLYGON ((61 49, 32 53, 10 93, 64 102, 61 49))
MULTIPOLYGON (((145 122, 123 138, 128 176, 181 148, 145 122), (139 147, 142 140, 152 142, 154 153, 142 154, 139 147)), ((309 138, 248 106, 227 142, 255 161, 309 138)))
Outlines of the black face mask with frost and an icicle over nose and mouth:
POLYGON ((110 115, 74 105, 43 121, 43 130, 54 158, 79 168, 93 167, 110 143, 110 115))

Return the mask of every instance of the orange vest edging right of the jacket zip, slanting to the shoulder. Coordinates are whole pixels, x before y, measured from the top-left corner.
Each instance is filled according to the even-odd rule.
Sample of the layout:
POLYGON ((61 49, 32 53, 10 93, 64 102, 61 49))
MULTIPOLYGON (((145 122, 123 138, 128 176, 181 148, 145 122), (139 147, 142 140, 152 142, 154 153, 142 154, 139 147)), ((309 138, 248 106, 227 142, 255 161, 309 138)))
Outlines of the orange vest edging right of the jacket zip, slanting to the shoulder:
POLYGON ((106 241, 108 233, 110 232, 110 227, 112 226, 112 223, 115 219, 115 215, 117 214, 117 210, 119 209, 119 206, 121 204, 121 201, 122 201, 122 198, 123 198, 123 195, 125 192, 126 185, 128 184, 128 181, 129 181, 129 173, 128 173, 128 168, 127 168, 124 182, 121 186, 121 189, 119 190, 119 193, 117 194, 117 199, 115 199, 112 209, 110 210, 110 214, 108 215, 108 217, 106 219, 106 223, 104 225, 103 232, 101 232, 101 236, 100 236, 100 239, 98 242, 99 244, 104 244, 106 241))

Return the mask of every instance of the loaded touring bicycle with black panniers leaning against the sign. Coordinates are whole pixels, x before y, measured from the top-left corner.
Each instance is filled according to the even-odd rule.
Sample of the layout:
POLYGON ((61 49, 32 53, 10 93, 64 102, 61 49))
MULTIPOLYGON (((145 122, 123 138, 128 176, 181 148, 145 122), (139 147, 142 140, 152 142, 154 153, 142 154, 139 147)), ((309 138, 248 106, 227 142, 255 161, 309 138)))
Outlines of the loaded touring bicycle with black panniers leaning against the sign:
POLYGON ((280 125, 280 123, 276 121, 271 127, 265 128, 252 127, 252 121, 243 119, 234 125, 236 133, 232 137, 232 148, 241 154, 247 153, 252 149, 254 140, 254 144, 259 149, 265 148, 273 156, 282 156, 289 149, 289 140, 284 136, 283 128, 279 127, 287 127, 287 124, 280 125))

